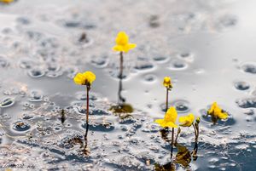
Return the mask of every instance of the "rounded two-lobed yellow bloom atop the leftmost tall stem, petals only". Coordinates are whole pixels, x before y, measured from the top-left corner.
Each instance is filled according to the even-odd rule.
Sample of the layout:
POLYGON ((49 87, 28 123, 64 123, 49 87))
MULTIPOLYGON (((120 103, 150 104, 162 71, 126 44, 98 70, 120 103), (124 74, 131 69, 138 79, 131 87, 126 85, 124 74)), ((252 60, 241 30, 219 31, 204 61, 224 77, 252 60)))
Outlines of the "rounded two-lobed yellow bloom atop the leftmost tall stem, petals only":
POLYGON ((79 85, 86 85, 90 86, 92 82, 96 79, 96 75, 91 71, 85 71, 84 73, 78 73, 74 78, 73 81, 79 85))

